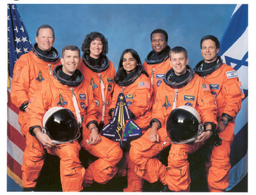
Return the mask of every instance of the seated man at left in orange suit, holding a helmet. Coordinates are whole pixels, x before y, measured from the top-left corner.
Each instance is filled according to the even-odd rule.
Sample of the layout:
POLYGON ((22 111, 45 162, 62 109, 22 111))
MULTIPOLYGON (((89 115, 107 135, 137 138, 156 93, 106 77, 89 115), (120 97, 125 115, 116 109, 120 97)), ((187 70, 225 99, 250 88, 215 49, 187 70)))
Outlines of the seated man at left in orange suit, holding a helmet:
MULTIPOLYGON (((44 164, 44 150, 42 152, 41 148, 45 147, 48 153, 58 155, 61 159, 63 191, 81 191, 83 183, 108 182, 116 173, 115 165, 122 157, 122 150, 118 143, 99 135, 92 88, 84 81, 81 71, 77 70, 80 63, 79 48, 74 45, 64 47, 61 63, 63 65, 54 68, 54 77, 49 77, 38 86, 31 103, 28 118, 31 135, 28 138, 32 141, 31 145, 26 146, 28 155, 24 156, 24 162, 33 162, 33 168, 38 173, 44 164), (79 160, 81 147, 77 141, 53 144, 49 136, 42 133, 42 118, 51 107, 69 109, 77 117, 79 126, 83 127, 81 145, 86 145, 86 150, 99 157, 86 170, 79 160)), ((29 181, 36 184, 36 176, 33 175, 29 181)))

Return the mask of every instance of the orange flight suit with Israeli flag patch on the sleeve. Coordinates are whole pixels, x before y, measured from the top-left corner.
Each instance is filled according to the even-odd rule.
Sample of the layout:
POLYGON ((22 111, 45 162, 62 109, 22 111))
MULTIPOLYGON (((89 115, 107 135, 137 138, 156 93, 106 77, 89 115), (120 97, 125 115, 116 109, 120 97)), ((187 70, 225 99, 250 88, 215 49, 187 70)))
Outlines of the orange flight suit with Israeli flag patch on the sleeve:
MULTIPOLYGON (((202 61, 198 63, 198 65, 201 63, 202 61)), ((196 67, 198 67, 198 65, 196 65, 196 67)), ((231 169, 229 155, 230 146, 234 139, 234 119, 241 109, 244 94, 243 90, 241 90, 241 82, 232 66, 222 63, 217 70, 211 74, 205 75, 203 78, 205 82, 210 84, 212 95, 214 95, 216 99, 218 121, 221 120, 223 113, 228 114, 228 116, 232 118, 232 120, 228 122, 225 130, 218 133, 220 138, 222 138, 222 144, 213 147, 210 157, 211 160, 206 165, 207 172, 209 172, 207 176, 209 191, 223 192, 228 187, 228 175, 231 169)))

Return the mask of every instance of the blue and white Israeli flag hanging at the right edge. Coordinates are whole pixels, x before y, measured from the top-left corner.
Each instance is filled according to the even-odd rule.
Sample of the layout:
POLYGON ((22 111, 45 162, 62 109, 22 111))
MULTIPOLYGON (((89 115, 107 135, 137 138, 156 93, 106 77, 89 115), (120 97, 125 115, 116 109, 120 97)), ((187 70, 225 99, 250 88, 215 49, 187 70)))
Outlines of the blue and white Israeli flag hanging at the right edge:
POLYGON ((223 63, 237 71, 244 92, 230 153, 232 168, 227 187, 230 191, 248 173, 248 4, 237 4, 221 39, 219 55, 223 63))

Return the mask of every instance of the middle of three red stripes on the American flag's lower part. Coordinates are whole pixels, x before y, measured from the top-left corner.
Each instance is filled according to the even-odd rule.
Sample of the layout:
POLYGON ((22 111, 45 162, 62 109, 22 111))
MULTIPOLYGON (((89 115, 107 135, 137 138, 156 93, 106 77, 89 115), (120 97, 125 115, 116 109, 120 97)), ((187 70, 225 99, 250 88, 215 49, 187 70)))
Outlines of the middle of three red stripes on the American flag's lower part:
POLYGON ((24 136, 20 134, 20 132, 17 131, 10 123, 7 121, 7 136, 9 137, 10 141, 17 145, 20 150, 24 152, 26 147, 26 139, 24 136))

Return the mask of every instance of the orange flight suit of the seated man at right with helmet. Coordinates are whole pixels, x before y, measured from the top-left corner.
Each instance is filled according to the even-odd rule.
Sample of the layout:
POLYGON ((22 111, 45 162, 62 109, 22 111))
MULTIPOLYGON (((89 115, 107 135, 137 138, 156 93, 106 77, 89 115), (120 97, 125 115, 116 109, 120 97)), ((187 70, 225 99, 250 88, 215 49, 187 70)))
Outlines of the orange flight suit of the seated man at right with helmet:
POLYGON ((200 114, 203 125, 205 123, 217 124, 217 107, 210 88, 204 79, 194 74, 188 84, 180 88, 172 88, 165 83, 159 86, 156 102, 153 105, 152 119, 156 119, 161 124, 161 128, 157 130, 160 141, 152 143, 148 139, 150 134, 150 129, 148 129, 143 136, 131 142, 130 150, 130 157, 135 163, 135 173, 138 176, 150 183, 160 180, 164 185, 168 184, 172 191, 189 191, 188 154, 198 150, 202 144, 172 144, 167 168, 156 158, 158 153, 171 144, 166 139, 166 121, 170 112, 181 105, 194 107, 200 114))

